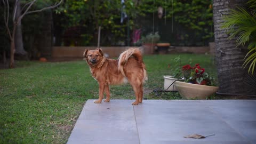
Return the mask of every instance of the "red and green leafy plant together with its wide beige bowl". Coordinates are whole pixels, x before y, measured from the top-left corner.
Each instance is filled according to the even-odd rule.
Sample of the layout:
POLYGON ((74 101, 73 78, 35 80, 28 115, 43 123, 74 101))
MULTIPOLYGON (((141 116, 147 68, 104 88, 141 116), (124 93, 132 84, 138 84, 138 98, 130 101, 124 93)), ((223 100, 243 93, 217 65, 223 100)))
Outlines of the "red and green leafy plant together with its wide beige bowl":
POLYGON ((194 67, 185 65, 182 67, 185 82, 175 82, 180 95, 184 99, 206 99, 215 93, 219 87, 215 86, 215 80, 205 72, 199 64, 194 67))

